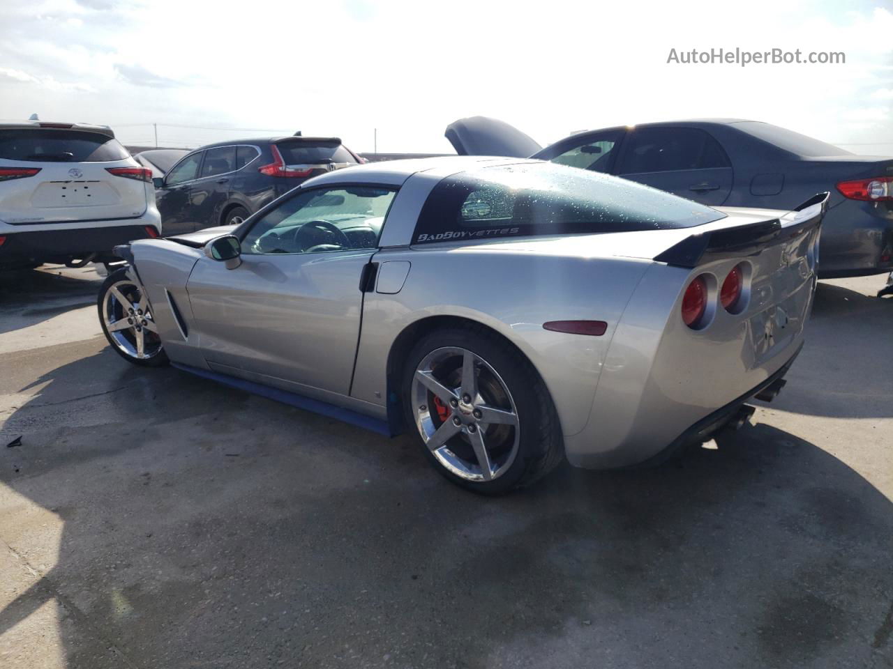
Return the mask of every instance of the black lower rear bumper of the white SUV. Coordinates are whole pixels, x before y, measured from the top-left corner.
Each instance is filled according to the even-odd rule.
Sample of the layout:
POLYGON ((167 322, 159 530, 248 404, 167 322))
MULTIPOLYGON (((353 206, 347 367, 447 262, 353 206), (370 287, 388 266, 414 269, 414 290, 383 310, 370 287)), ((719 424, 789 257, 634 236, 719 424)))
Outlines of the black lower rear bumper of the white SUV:
POLYGON ((0 268, 83 260, 94 253, 95 260, 117 260, 112 254, 113 248, 149 237, 146 226, 146 221, 140 221, 126 226, 3 232, 0 233, 5 237, 4 244, 0 245, 0 268))

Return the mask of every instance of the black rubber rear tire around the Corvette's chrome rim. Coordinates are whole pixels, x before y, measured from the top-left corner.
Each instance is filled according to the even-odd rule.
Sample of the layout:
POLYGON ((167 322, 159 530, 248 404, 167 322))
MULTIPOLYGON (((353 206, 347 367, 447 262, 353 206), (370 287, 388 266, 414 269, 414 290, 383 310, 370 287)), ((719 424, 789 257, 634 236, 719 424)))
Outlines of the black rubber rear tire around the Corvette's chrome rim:
POLYGON ((561 427, 546 384, 520 351, 483 326, 450 327, 424 335, 405 359, 401 379, 405 424, 419 439, 431 464, 447 480, 483 495, 500 495, 528 486, 547 475, 564 459, 561 427), (441 348, 472 351, 493 368, 514 401, 520 429, 517 454, 505 472, 491 481, 470 481, 449 471, 429 450, 416 424, 413 378, 424 359, 441 348))

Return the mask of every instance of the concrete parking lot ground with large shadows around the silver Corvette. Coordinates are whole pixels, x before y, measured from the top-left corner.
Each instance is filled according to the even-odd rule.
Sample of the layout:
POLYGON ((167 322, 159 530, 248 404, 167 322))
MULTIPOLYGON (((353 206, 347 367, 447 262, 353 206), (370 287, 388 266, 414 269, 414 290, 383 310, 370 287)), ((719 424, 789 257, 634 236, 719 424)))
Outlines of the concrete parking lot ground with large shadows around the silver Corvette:
POLYGON ((0 278, 0 666, 893 666, 893 300, 822 282, 755 425, 497 500, 0 278), (21 445, 6 443, 21 436, 21 445))

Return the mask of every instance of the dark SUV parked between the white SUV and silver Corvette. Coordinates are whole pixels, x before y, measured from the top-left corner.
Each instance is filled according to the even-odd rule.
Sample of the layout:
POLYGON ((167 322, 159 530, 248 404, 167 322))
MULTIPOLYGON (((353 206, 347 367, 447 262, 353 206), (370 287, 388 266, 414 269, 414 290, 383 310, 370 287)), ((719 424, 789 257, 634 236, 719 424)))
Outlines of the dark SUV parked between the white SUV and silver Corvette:
POLYGON ((364 162, 338 137, 219 142, 188 153, 154 178, 163 235, 234 225, 306 179, 364 162))

